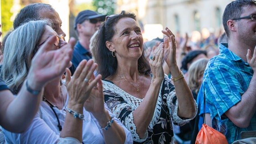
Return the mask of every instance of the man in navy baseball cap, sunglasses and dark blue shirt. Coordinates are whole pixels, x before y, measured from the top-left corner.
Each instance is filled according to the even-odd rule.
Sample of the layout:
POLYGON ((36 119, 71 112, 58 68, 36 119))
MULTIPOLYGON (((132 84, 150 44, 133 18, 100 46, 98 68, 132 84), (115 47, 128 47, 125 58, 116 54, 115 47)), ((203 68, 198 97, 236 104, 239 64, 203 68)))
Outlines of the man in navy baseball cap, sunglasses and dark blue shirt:
POLYGON ((89 49, 90 39, 100 28, 103 21, 105 21, 105 15, 97 14, 91 10, 81 11, 75 18, 74 29, 78 36, 72 58, 72 63, 75 67, 77 67, 83 59, 91 59, 91 51, 89 49))

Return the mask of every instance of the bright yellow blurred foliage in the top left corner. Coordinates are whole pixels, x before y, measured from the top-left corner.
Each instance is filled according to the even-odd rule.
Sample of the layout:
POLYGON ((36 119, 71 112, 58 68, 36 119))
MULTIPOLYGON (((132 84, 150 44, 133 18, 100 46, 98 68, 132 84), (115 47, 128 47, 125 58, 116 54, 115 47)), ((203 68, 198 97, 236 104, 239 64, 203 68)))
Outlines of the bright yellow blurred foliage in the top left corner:
POLYGON ((1 25, 2 25, 2 34, 5 34, 12 29, 13 22, 11 21, 11 17, 13 13, 11 12, 11 8, 13 6, 13 0, 0 0, 1 1, 1 25))

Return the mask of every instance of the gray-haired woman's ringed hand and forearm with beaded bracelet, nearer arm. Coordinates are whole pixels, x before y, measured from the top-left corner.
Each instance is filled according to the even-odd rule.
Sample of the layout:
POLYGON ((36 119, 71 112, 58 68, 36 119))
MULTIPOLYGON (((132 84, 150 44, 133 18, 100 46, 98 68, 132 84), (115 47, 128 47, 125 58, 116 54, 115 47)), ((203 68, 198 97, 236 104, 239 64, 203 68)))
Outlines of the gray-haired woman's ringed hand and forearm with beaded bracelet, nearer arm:
POLYGON ((97 64, 93 63, 92 59, 88 62, 83 60, 79 63, 72 78, 69 68, 66 69, 66 85, 69 93, 69 103, 66 108, 67 115, 65 117, 64 128, 60 132, 60 137, 73 137, 82 142, 83 118, 75 117, 76 113, 73 112, 78 112, 83 116, 83 104, 88 99, 91 89, 101 80, 101 75, 98 75, 95 79, 91 80, 90 83, 85 81, 85 79, 91 79, 96 67, 97 64))

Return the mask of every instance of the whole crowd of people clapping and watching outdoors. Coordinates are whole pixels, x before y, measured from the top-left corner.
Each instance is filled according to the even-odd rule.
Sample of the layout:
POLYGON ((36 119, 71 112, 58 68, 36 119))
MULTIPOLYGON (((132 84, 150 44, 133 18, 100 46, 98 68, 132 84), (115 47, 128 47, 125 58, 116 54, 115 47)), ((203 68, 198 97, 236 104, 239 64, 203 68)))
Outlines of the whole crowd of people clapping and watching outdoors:
POLYGON ((61 23, 28 4, 0 43, 0 142, 194 144, 205 121, 229 144, 256 143, 255 0, 229 3, 225 32, 197 48, 168 27, 143 41, 126 11, 81 11, 77 42, 61 23))

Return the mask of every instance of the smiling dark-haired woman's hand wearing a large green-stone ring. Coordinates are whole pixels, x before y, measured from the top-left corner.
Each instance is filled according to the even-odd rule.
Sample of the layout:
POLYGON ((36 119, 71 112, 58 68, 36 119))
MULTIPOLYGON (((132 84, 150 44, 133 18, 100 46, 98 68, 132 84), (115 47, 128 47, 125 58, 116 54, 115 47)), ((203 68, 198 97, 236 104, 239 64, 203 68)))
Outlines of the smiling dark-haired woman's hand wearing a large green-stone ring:
POLYGON ((162 81, 164 79, 164 70, 162 66, 163 57, 164 57, 164 44, 160 43, 158 47, 155 49, 155 54, 151 55, 149 64, 151 67, 151 71, 153 73, 154 79, 159 79, 162 81))

